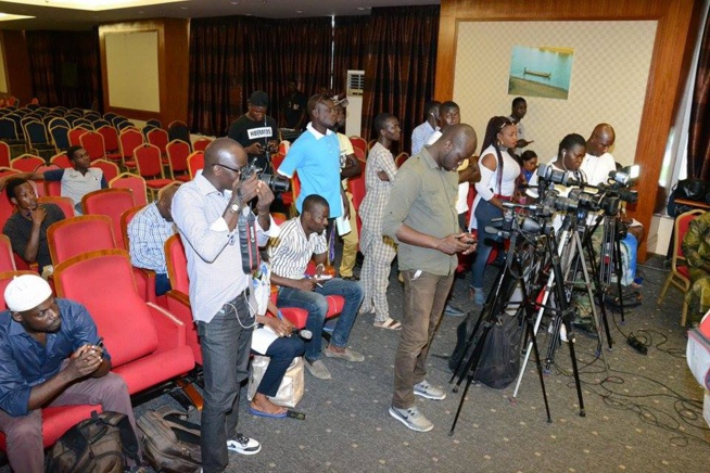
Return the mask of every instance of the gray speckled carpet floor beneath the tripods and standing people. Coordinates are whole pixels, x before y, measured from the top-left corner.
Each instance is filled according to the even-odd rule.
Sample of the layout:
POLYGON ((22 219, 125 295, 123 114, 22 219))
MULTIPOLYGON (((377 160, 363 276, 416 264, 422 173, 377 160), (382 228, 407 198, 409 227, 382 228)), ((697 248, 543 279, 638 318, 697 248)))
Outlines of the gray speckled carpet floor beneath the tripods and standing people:
MULTIPOLYGON (((460 319, 446 317, 431 349, 428 379, 446 387, 448 394, 443 401, 418 398, 434 430, 423 434, 409 431, 388 413, 398 332, 376 329, 371 317, 362 317, 351 346, 366 354, 365 362, 326 359, 331 381, 306 373, 306 393, 297 406, 306 420, 255 418, 248 413, 242 398, 242 431, 262 442, 263 450, 252 457, 230 453, 228 471, 701 471, 699 465, 710 463, 702 392, 685 362, 680 293, 670 290, 664 304, 656 304, 668 273, 659 267, 661 258, 641 268, 645 277, 643 305, 626 310, 626 323, 620 324, 619 315, 613 317, 619 325, 612 327, 616 345, 606 351, 611 369, 608 380, 595 356, 596 342, 578 336, 584 418, 579 416, 565 345, 551 373, 545 376, 551 423, 546 422, 531 362, 516 401, 510 399, 514 385, 505 389, 472 385, 449 436, 460 393, 448 388, 451 374, 442 356, 452 351, 460 319), (647 356, 624 343, 622 332, 632 331, 649 345, 647 356)), ((489 284, 494 272, 492 268, 486 273, 489 284)), ((394 271, 391 281, 391 315, 400 319, 403 290, 394 271)), ((472 308, 468 279, 457 279, 454 293, 455 304, 472 308)), ((540 338, 546 343, 545 336, 540 338)), ((160 402, 174 401, 163 396, 137 411, 160 402)), ((192 412, 191 418, 198 420, 199 414, 192 412)))

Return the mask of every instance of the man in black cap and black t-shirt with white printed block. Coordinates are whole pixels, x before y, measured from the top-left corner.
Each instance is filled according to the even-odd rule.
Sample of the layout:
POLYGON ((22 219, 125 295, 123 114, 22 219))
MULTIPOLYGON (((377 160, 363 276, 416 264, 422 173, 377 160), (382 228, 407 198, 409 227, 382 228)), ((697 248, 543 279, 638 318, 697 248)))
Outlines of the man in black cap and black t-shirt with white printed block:
POLYGON ((248 103, 246 113, 231 124, 227 136, 244 148, 250 163, 256 158, 258 167, 271 172, 267 156, 277 151, 279 132, 276 120, 266 115, 269 98, 266 92, 257 90, 248 103))

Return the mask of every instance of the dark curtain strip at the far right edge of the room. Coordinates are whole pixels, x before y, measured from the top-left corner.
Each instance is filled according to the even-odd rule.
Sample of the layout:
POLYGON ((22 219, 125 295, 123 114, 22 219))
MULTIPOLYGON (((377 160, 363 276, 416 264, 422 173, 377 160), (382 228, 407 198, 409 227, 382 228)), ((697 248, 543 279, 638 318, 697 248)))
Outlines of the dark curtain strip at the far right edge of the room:
POLYGON ((706 20, 695 77, 688 137, 688 177, 710 181, 710 15, 706 20))

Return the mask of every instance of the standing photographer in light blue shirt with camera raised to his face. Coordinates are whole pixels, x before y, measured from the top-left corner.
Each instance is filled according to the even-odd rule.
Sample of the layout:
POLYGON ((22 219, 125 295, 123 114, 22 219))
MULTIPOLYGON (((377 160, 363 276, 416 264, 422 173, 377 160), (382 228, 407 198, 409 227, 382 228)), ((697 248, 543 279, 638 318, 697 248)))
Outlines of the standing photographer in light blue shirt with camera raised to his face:
POLYGON ((202 459, 205 473, 221 472, 228 450, 254 455, 261 445, 237 432, 239 392, 249 374, 255 325, 251 314, 251 276, 242 267, 237 223, 256 200, 256 237, 266 244, 278 231, 269 215, 274 193, 255 174, 240 179, 246 153, 236 141, 219 138, 205 150, 201 175, 180 187, 173 199, 173 218, 185 244, 190 276, 190 304, 202 346, 204 409, 202 459), (271 231, 271 230, 275 231, 271 231))

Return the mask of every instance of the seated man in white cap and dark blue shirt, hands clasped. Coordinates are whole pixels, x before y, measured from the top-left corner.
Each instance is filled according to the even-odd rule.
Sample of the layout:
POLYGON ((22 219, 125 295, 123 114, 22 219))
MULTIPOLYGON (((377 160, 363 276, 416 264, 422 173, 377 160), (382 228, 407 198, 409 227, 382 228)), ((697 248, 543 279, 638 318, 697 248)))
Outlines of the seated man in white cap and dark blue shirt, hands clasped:
POLYGON ((47 406, 101 405, 136 421, 128 388, 110 373, 87 309, 55 298, 43 279, 23 274, 4 293, 0 312, 0 431, 8 460, 17 472, 42 472, 42 418, 47 406))

